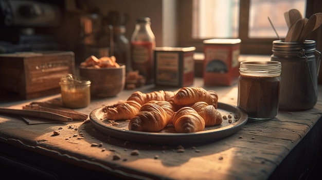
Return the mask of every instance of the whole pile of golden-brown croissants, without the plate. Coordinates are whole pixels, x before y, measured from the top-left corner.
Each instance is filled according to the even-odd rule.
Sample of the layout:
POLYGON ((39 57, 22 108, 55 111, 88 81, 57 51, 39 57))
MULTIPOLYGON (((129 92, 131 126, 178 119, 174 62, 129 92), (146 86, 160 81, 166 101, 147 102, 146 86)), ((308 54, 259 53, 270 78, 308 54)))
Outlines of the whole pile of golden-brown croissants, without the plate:
POLYGON ((203 88, 185 87, 176 93, 136 91, 126 102, 108 108, 106 118, 130 119, 129 129, 159 132, 173 124, 177 132, 201 131, 205 126, 219 125, 218 94, 203 88))

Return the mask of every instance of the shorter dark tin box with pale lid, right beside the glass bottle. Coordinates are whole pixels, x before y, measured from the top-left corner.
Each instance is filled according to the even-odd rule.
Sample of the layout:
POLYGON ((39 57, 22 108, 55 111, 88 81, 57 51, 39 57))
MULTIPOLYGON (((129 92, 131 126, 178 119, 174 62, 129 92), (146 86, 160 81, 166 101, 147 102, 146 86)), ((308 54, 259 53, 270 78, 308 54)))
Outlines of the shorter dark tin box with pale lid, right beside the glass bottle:
POLYGON ((155 85, 184 87, 193 84, 195 47, 157 47, 154 51, 155 85))

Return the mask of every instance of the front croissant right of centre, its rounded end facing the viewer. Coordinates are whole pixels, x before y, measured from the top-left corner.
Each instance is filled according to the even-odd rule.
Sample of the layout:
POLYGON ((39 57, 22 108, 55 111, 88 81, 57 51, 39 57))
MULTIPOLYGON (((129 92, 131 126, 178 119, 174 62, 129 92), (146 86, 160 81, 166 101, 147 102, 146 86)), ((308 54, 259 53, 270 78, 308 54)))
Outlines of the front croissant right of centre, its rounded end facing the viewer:
POLYGON ((185 106, 172 116, 172 124, 176 132, 189 133, 205 129, 204 119, 191 107, 185 106))

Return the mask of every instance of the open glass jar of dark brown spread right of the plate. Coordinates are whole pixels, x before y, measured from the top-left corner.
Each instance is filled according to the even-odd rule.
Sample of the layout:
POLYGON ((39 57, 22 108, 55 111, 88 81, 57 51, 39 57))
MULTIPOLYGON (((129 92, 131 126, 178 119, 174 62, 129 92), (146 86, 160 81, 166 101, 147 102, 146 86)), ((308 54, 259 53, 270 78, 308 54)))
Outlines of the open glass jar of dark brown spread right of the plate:
POLYGON ((265 120, 277 115, 281 63, 241 62, 238 79, 238 107, 248 118, 265 120))

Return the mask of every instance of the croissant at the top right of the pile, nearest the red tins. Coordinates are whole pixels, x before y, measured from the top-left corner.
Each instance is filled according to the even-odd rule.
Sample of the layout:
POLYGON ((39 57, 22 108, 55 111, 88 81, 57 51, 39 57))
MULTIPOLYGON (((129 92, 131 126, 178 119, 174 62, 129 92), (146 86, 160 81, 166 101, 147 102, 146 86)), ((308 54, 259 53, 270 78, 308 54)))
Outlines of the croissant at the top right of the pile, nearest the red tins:
POLYGON ((184 87, 174 95, 174 103, 176 105, 188 106, 199 101, 204 101, 208 105, 216 105, 215 107, 217 107, 217 99, 212 97, 211 94, 203 88, 184 87))

